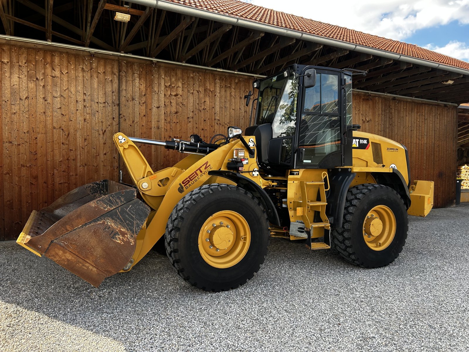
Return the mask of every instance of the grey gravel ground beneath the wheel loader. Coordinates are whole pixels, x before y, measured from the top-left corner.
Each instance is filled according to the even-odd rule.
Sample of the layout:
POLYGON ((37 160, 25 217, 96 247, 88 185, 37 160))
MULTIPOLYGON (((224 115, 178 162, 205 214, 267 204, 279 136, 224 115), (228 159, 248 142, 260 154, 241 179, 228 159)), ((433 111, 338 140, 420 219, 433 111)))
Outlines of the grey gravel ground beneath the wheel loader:
POLYGON ((1 351, 468 351, 469 204, 410 217, 380 269, 272 239, 246 285, 208 293, 149 253, 96 289, 0 243, 1 351))

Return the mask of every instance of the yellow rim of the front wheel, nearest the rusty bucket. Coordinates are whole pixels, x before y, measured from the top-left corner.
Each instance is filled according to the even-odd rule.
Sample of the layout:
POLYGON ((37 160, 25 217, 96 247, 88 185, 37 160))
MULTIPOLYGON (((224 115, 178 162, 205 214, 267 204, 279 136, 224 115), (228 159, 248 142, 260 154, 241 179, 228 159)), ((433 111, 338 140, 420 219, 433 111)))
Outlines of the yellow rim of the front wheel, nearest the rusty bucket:
POLYGON ((251 230, 242 215, 222 210, 210 216, 199 232, 199 252, 215 268, 229 268, 240 262, 251 243, 251 230))

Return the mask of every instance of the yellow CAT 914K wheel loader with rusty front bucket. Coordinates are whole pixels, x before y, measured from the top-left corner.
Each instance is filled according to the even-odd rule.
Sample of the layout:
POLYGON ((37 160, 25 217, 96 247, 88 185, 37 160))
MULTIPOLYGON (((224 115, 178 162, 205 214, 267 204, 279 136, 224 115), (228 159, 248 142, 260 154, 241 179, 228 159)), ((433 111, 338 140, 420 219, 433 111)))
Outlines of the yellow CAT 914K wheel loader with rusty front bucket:
POLYGON ((431 210, 433 182, 411 184, 406 148, 352 124, 354 74, 294 65, 255 80, 244 136, 236 127, 208 143, 116 133, 133 184, 70 191, 33 211, 17 242, 94 286, 156 245, 188 283, 229 290, 259 270, 271 236, 333 247, 364 268, 388 265, 405 244, 408 214, 431 210), (188 156, 153 171, 138 143, 188 156))

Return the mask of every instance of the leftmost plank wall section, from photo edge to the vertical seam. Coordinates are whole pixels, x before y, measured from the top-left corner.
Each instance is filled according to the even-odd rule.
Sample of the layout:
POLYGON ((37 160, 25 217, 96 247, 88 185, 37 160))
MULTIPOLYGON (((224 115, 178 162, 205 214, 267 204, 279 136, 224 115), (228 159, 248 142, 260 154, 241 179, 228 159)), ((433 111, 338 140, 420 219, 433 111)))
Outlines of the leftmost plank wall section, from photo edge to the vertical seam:
POLYGON ((31 210, 116 179, 119 65, 14 45, 0 56, 2 240, 18 236, 31 210))

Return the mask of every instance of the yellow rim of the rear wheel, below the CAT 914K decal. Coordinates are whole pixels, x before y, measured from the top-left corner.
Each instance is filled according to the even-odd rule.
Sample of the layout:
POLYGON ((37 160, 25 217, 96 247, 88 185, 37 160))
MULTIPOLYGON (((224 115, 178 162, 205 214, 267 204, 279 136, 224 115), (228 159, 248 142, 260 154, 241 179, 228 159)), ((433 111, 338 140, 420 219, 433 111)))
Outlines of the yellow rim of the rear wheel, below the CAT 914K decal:
POLYGON ((396 234, 396 218, 393 211, 379 205, 372 208, 363 221, 363 239, 374 251, 382 251, 393 242, 396 234))

